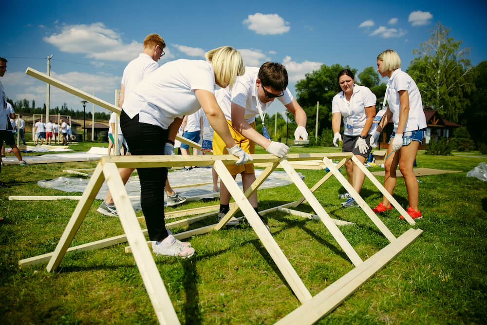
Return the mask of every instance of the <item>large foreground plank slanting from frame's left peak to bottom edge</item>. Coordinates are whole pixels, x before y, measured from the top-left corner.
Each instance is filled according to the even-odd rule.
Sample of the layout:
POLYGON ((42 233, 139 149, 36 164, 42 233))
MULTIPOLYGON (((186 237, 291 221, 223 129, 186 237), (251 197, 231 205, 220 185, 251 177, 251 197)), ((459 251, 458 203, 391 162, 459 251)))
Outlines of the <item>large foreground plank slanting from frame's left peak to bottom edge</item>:
POLYGON ((103 173, 159 323, 180 324, 159 270, 147 247, 146 239, 135 217, 135 212, 116 165, 114 163, 103 164, 103 173))

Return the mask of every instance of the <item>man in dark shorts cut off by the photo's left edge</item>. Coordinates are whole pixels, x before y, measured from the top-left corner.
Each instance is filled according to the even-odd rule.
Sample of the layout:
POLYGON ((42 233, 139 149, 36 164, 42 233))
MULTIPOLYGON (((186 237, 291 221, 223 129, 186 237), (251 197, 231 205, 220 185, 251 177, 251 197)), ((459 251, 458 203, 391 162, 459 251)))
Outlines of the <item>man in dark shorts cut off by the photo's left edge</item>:
MULTIPOLYGON (((7 72, 7 59, 0 57, 0 76, 4 76, 5 72, 7 72)), ((15 117, 15 112, 12 105, 7 103, 6 97, 7 96, 3 90, 3 84, 0 81, 0 147, 3 146, 3 141, 5 141, 5 143, 12 148, 17 159, 19 159, 20 165, 27 165, 27 163, 22 160, 19 148, 15 144, 14 134, 12 133, 13 128, 10 123, 10 118, 15 117)), ((1 166, 3 166, 3 161, 1 160, 0 155, 0 172, 1 166)))

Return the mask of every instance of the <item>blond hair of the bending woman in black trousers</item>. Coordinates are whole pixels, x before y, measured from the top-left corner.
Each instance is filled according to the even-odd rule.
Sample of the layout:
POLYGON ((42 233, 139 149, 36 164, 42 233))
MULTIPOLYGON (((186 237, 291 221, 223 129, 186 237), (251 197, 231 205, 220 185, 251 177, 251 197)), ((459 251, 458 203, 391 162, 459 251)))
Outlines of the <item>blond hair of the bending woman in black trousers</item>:
POLYGON ((210 50, 206 52, 205 58, 211 63, 215 79, 223 88, 228 85, 232 87, 237 76, 245 73, 245 64, 240 52, 231 46, 210 50))

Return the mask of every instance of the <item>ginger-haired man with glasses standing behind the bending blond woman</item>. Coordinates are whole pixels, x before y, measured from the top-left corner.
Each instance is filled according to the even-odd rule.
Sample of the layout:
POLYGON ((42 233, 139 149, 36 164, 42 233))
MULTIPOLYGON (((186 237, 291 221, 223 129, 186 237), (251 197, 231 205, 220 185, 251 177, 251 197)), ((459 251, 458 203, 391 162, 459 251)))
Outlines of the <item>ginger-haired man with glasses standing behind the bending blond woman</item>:
MULTIPOLYGON (((137 58, 131 60, 124 69, 122 82, 120 85, 120 98, 118 101, 118 107, 122 108, 122 105, 125 100, 125 96, 130 92, 132 92, 135 86, 145 76, 150 75, 150 73, 152 73, 159 67, 157 61, 165 54, 164 53, 165 47, 166 47, 166 42, 158 34, 150 34, 144 39, 143 53, 139 54, 137 58)), ((120 132, 121 130, 120 125, 118 126, 118 130, 120 132)), ((121 141, 119 141, 119 145, 120 144, 121 141)), ((154 144, 154 145, 158 145, 158 144, 154 144)), ((135 170, 134 168, 118 169, 118 172, 120 173, 120 177, 122 178, 124 184, 127 183, 131 173, 134 170, 135 170)), ((168 206, 175 206, 186 202, 186 197, 181 196, 172 190, 168 180, 166 181, 166 186, 164 188, 164 191, 166 192, 167 195, 168 206)), ((115 205, 113 204, 112 193, 110 191, 108 191, 107 196, 105 197, 105 199, 103 200, 102 204, 100 205, 97 211, 104 215, 109 215, 109 216, 117 215, 117 210, 115 208, 115 205)))

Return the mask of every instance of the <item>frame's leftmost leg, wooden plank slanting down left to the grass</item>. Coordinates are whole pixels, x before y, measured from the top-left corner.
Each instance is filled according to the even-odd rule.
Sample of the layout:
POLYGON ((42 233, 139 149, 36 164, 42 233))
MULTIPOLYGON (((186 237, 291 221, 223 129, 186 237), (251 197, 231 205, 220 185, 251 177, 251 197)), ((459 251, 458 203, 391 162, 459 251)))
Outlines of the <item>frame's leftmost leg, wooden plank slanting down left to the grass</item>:
POLYGON ((85 191, 83 192, 83 195, 81 196, 81 199, 76 205, 73 215, 69 219, 66 229, 64 229, 64 232, 59 239, 59 243, 57 243, 51 260, 47 264, 48 272, 54 271, 61 263, 61 260, 63 259, 64 254, 66 254, 66 250, 71 245, 79 226, 85 219, 86 213, 92 206, 94 198, 103 184, 103 180, 104 177, 102 174, 102 167, 100 164, 98 164, 93 172, 93 176, 90 178, 90 181, 86 186, 85 191))

